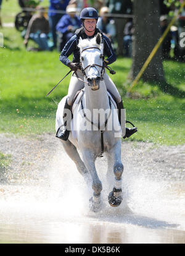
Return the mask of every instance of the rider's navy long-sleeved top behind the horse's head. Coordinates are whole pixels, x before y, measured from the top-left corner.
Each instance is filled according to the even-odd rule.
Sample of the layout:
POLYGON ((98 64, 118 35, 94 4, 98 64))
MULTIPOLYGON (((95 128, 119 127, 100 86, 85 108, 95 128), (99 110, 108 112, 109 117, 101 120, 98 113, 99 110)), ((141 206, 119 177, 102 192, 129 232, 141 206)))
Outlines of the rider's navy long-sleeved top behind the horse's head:
MULTIPOLYGON (((80 36, 82 39, 91 39, 97 33, 101 33, 101 31, 98 28, 96 28, 94 35, 91 37, 87 36, 86 33, 84 33, 84 28, 76 30, 75 35, 73 35, 72 38, 70 38, 70 40, 64 46, 64 49, 62 49, 62 52, 60 54, 60 61, 67 66, 70 62, 68 56, 70 56, 70 54, 73 53, 73 62, 80 63, 80 49, 78 48, 78 41, 80 39, 80 36)), ((107 64, 112 64, 116 61, 117 56, 112 49, 112 45, 110 43, 109 38, 107 38, 107 36, 103 34, 102 38, 104 42, 104 56, 107 56, 107 64)))

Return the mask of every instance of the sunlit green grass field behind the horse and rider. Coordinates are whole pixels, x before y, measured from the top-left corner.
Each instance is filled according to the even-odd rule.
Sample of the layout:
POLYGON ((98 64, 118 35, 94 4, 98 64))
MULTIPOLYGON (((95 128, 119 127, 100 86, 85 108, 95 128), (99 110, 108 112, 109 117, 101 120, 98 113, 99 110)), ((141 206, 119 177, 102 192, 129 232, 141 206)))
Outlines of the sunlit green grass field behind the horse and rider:
MULTIPOLYGON (((27 52, 14 28, 3 28, 4 47, 0 48, 0 132, 17 135, 55 132, 54 101, 67 94, 70 75, 46 97, 47 92, 68 72, 59 61, 59 53, 27 52)), ((178 145, 184 143, 185 122, 183 97, 185 64, 165 61, 167 85, 139 81, 126 97, 131 59, 118 58, 110 75, 126 108, 126 119, 138 127, 129 140, 178 145), (164 93, 172 88, 171 95, 164 93), (181 91, 180 91, 181 90, 181 91)))

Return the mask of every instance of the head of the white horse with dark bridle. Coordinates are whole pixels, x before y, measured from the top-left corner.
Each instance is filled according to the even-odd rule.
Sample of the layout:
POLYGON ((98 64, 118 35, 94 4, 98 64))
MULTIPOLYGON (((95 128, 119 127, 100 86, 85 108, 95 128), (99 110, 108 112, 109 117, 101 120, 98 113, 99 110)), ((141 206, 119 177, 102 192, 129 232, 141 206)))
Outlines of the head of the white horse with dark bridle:
POLYGON ((100 33, 91 40, 80 38, 80 61, 83 73, 92 90, 99 89, 99 83, 104 75, 103 54, 101 52, 102 36, 100 33))

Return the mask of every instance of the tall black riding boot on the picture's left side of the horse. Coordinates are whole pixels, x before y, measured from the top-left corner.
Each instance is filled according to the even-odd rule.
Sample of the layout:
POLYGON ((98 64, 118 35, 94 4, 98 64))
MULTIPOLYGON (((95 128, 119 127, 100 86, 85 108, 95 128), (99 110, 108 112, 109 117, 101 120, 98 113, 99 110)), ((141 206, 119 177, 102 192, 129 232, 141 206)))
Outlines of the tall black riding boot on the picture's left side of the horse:
POLYGON ((70 130, 67 129, 67 124, 70 124, 70 121, 72 119, 72 113, 68 114, 65 113, 66 109, 71 111, 71 106, 68 105, 67 100, 65 101, 65 105, 64 105, 64 114, 63 114, 63 119, 65 118, 65 122, 64 122, 64 126, 62 127, 62 129, 57 130, 57 134, 55 135, 55 137, 61 139, 61 140, 68 140, 68 136, 70 134, 70 130))

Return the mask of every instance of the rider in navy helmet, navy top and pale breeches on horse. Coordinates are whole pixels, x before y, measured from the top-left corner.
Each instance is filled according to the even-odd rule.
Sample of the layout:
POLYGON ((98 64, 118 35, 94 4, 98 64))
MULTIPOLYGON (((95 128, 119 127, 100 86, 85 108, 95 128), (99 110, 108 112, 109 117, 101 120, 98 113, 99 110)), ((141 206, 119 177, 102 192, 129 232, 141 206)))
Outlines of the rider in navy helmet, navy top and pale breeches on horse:
MULTIPOLYGON (((78 66, 80 63, 80 50, 78 48, 78 41, 80 37, 82 39, 86 39, 86 38, 91 39, 94 36, 96 36, 97 33, 101 33, 102 43, 104 44, 104 53, 107 55, 107 59, 104 60, 105 64, 112 64, 117 59, 117 56, 115 55, 112 49, 109 38, 107 38, 107 36, 105 36, 96 27, 96 23, 98 20, 98 14, 96 9, 92 7, 84 8, 80 14, 80 20, 82 23, 82 27, 76 30, 75 35, 73 35, 72 38, 70 38, 70 40, 66 43, 66 45, 64 46, 64 49, 62 49, 62 53, 60 54, 60 61, 66 66, 70 67, 71 70, 75 71, 75 73, 78 76, 76 77, 75 73, 72 75, 72 78, 70 80, 70 84, 68 87, 68 95, 67 95, 67 100, 65 101, 64 111, 65 109, 71 108, 72 101, 76 92, 78 90, 81 90, 84 87, 84 82, 81 81, 81 80, 84 80, 84 75, 78 66), (71 62, 68 59, 68 56, 70 56, 70 54, 72 53, 73 53, 73 61, 71 62)), ((115 87, 115 84, 113 83, 113 81, 110 79, 109 75, 107 75, 106 73, 104 74, 104 81, 105 81, 107 90, 109 90, 109 92, 112 93, 115 100, 117 101, 118 116, 121 117, 119 113, 121 112, 121 109, 123 109, 123 102, 121 100, 120 93, 115 87)), ((120 118, 119 118, 119 121, 120 121, 120 118)), ((125 139, 126 137, 130 137, 132 134, 134 134, 134 132, 137 132, 136 127, 132 129, 126 128, 126 134, 123 138, 125 139)), ((56 137, 62 140, 67 140, 69 134, 70 134, 70 131, 67 130, 65 126, 63 126, 62 130, 59 129, 57 131, 56 137)))

